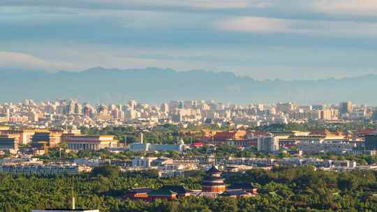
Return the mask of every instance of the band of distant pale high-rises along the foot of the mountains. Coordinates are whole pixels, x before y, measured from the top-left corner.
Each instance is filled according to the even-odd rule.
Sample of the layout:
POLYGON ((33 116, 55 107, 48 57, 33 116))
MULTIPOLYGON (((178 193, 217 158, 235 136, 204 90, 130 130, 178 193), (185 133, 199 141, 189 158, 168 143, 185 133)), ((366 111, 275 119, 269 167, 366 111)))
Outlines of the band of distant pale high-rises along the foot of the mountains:
POLYGON ((33 128, 97 127, 135 123, 153 126, 157 123, 232 124, 234 126, 261 126, 269 123, 295 121, 377 121, 374 107, 353 105, 297 105, 295 103, 237 105, 217 103, 214 100, 172 100, 168 103, 149 104, 128 100, 121 104, 80 103, 77 100, 55 100, 0 105, 0 123, 14 123, 33 128))

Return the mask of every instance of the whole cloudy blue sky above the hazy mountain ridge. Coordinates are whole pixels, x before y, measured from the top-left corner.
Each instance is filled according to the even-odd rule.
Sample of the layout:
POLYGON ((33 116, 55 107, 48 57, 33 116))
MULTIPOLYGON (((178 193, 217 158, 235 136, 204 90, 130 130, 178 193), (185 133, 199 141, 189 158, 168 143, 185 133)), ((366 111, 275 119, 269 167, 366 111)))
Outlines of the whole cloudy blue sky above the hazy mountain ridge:
POLYGON ((0 67, 377 74, 377 0, 1 0, 0 67))

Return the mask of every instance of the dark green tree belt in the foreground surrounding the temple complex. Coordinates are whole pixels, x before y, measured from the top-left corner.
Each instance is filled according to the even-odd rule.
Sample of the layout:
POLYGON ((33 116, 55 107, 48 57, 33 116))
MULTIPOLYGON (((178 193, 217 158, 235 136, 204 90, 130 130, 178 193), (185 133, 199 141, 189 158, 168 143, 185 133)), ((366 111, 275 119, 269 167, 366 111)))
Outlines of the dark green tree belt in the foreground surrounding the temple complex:
POLYGON ((224 174, 226 182, 252 183, 259 195, 251 198, 188 197, 145 203, 123 199, 128 188, 186 185, 200 189, 202 172, 191 177, 158 179, 156 172, 112 174, 101 167, 95 175, 11 176, 0 174, 0 211, 66 208, 74 182, 78 208, 101 211, 377 211, 376 172, 316 171, 313 167, 279 167, 271 171, 252 169, 224 174))

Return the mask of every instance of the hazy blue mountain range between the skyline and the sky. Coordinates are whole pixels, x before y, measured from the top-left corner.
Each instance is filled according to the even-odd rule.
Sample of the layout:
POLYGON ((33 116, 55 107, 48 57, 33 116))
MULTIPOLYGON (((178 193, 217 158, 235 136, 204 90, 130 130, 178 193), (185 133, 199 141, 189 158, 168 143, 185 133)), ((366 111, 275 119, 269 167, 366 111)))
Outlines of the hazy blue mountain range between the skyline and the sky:
POLYGON ((355 103, 377 105, 377 75, 316 80, 256 80, 204 70, 90 68, 47 73, 0 68, 0 101, 77 98, 80 102, 218 100, 224 103, 355 103))

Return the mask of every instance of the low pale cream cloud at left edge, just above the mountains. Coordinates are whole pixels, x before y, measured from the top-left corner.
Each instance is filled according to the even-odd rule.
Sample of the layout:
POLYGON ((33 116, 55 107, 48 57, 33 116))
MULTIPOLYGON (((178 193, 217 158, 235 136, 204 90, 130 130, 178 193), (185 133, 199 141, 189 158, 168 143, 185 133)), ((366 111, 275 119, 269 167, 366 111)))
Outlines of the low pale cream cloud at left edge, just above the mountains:
POLYGON ((50 71, 67 70, 73 68, 73 66, 68 63, 46 61, 45 59, 20 52, 0 52, 0 67, 50 71))

